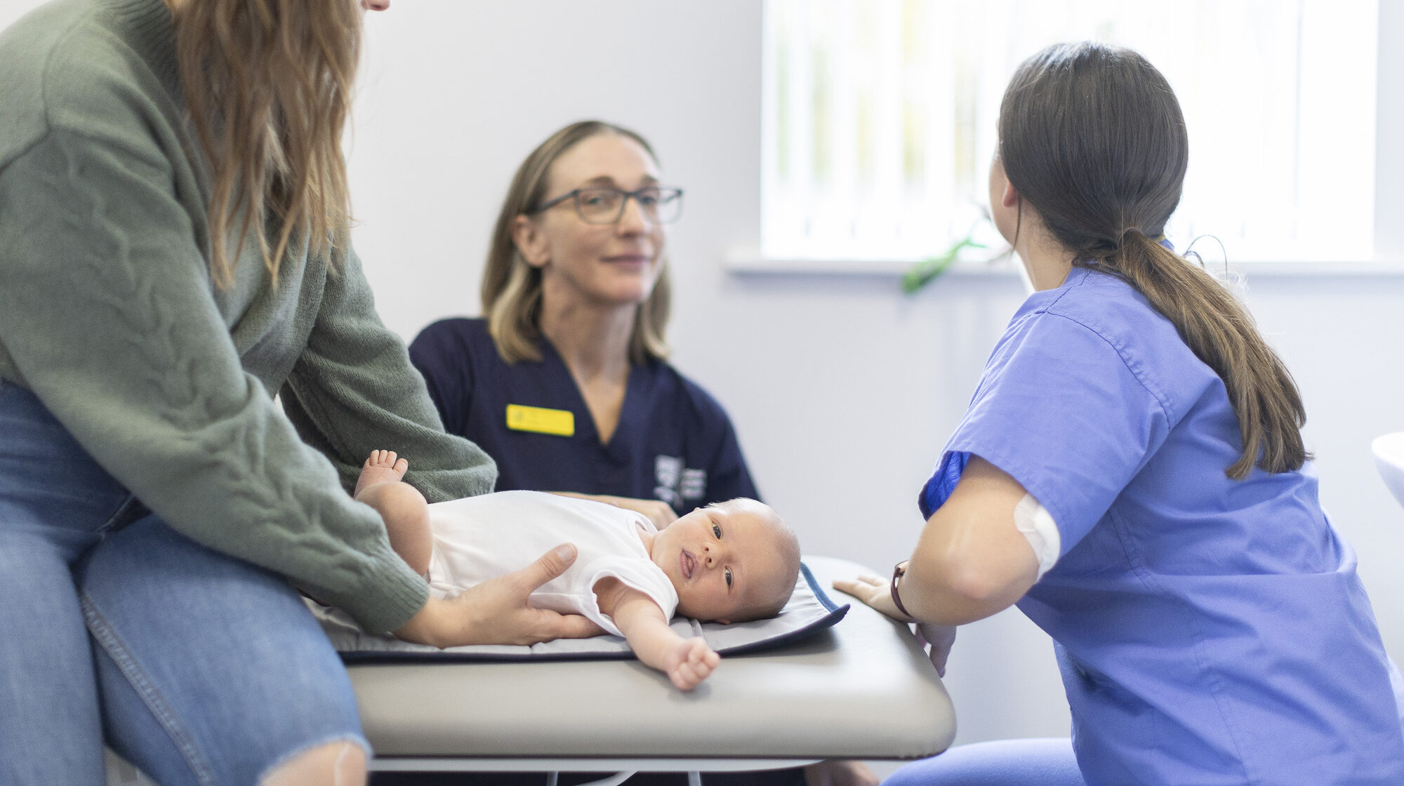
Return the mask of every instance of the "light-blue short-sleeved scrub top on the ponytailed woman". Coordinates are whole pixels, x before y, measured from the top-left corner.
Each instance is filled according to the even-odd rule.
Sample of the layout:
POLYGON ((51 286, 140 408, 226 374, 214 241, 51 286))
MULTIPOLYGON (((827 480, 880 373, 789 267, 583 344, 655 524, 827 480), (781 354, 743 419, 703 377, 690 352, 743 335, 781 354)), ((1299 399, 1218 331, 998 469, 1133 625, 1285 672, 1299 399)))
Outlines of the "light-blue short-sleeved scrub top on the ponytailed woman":
POLYGON ((1355 552, 1310 463, 1230 480, 1241 449, 1170 320, 1073 268, 1011 320, 921 509, 979 455, 1053 515, 1063 553, 1018 606, 1054 639, 1090 785, 1401 785, 1355 552))

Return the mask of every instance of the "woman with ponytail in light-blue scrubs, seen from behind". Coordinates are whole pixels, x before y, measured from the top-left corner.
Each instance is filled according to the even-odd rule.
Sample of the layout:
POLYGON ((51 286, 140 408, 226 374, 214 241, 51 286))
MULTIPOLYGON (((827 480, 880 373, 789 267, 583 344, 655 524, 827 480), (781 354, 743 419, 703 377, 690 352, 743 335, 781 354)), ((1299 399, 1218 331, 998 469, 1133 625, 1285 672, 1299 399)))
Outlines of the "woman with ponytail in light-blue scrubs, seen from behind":
POLYGON ((1036 292, 921 493, 911 559, 840 588, 932 626, 1018 605, 1056 643, 1073 740, 890 782, 1404 783, 1393 667, 1296 385, 1157 241, 1188 160, 1168 83, 1126 49, 1052 46, 998 131, 994 220, 1036 292))

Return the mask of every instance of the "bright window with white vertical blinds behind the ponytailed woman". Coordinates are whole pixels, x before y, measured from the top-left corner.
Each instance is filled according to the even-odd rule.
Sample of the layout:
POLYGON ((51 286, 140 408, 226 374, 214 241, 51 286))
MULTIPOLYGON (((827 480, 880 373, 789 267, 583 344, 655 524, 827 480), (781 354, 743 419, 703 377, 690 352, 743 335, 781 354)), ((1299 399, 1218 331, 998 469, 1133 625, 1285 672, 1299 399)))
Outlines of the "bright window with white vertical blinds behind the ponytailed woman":
POLYGON ((1189 126, 1167 233, 1233 261, 1375 254, 1376 0, 767 0, 761 253, 913 260, 983 222, 1004 86, 1059 41, 1137 49, 1189 126))

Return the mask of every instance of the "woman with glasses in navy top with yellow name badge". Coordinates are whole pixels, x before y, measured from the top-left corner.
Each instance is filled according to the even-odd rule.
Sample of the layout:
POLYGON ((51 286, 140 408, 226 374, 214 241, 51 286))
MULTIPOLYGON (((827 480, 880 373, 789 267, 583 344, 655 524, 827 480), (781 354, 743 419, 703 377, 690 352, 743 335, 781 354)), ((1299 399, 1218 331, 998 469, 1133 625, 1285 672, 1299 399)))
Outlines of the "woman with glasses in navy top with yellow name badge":
POLYGON ((757 495, 726 413, 664 359, 664 225, 681 212, 649 143, 605 122, 560 129, 517 170, 484 317, 410 345, 449 434, 497 460, 498 491, 604 498, 660 528, 757 495))

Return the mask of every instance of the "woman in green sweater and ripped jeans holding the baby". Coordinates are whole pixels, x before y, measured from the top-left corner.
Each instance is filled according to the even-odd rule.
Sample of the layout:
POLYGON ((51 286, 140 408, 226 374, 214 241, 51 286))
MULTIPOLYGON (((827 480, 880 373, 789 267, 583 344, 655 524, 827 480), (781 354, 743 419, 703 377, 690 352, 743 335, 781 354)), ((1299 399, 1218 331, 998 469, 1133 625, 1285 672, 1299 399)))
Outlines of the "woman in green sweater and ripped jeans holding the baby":
POLYGON ((430 500, 496 476, 347 239, 388 4, 62 0, 0 32, 0 783, 101 783, 104 738, 166 785, 362 782, 293 587, 439 646, 595 632, 525 604, 569 547, 437 601, 344 491, 379 445, 430 500))

